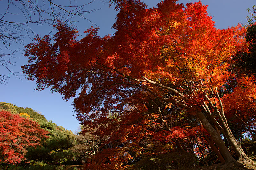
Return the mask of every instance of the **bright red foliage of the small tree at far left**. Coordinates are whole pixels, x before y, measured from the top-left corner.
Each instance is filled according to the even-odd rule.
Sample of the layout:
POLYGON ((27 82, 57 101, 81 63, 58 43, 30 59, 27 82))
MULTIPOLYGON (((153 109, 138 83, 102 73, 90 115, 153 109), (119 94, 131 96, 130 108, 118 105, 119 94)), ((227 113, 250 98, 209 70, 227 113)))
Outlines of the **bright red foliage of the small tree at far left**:
POLYGON ((48 132, 28 118, 0 111, 0 161, 16 164, 24 158, 27 147, 35 147, 48 132))

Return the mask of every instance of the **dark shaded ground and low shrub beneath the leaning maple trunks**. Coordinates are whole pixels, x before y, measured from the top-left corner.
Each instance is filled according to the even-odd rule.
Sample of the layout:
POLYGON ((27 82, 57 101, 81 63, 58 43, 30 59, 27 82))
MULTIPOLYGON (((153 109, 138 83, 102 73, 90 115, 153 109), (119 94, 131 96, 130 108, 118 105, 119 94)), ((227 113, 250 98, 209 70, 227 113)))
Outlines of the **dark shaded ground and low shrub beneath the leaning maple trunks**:
MULTIPOLYGON (((151 156, 142 158, 136 162, 135 165, 126 166, 128 170, 256 170, 256 142, 247 142, 242 144, 242 148, 245 153, 251 159, 251 161, 232 164, 220 164, 216 155, 207 160, 208 166, 199 163, 188 154, 182 153, 168 153, 158 156, 151 156)), ((232 152, 232 151, 231 151, 232 152)), ((235 152, 232 152, 236 159, 235 152)))

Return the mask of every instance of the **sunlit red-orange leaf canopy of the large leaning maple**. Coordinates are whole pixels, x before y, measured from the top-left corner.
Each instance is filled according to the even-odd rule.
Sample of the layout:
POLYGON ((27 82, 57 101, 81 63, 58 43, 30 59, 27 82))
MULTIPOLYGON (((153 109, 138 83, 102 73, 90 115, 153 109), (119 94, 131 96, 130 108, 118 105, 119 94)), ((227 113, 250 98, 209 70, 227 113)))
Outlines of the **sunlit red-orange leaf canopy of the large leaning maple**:
POLYGON ((77 31, 60 24, 54 44, 46 36, 27 46, 30 65, 23 66, 23 73, 28 79, 37 78, 37 89, 52 87, 64 99, 75 97, 81 88, 74 100, 81 121, 106 117, 110 110, 124 111, 128 103, 144 112, 139 100, 166 98, 164 90, 143 76, 171 83, 177 90, 199 89, 183 103, 198 108, 204 92, 221 88, 229 79, 228 60, 245 49, 245 43, 240 26, 214 28, 201 2, 187 4, 184 10, 175 2, 163 1, 156 9, 145 10, 137 1, 115 1, 120 8, 113 26, 116 33, 103 38, 97 36, 98 28, 90 28, 76 41, 77 31))

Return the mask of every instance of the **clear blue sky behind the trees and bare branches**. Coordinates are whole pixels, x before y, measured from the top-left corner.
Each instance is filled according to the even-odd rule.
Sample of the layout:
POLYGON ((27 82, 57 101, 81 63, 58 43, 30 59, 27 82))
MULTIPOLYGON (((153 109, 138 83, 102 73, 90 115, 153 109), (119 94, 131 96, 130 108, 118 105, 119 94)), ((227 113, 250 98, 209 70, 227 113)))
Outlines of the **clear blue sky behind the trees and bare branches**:
MULTIPOLYGON (((5 0, 7 1, 7 0, 5 0)), ((55 1, 55 0, 53 0, 55 1)), ((108 1, 108 0, 106 0, 108 1)), ((144 3, 149 8, 155 6, 160 0, 144 0, 144 3)), ((60 0, 57 0, 60 2, 60 0)), ((87 2, 83 0, 83 2, 87 2)), ((180 0, 178 3, 186 4, 188 0, 180 0)), ((194 1, 191 1, 194 2, 194 1)), ((202 0, 201 1, 208 6, 208 13, 213 17, 216 28, 225 29, 228 27, 236 26, 238 23, 246 23, 246 16, 248 15, 247 9, 252 9, 253 5, 256 5, 256 0, 202 0)), ((4 1, 0 1, 0 10, 4 11, 6 6, 3 5, 4 1)), ((108 3, 104 3, 100 0, 95 0, 92 4, 88 5, 88 9, 98 9, 93 13, 87 14, 87 18, 100 27, 99 35, 104 36, 112 34, 115 30, 111 29, 116 18, 116 11, 113 7, 109 8, 108 3)), ((10 9, 11 10, 11 9, 10 9)), ((13 18, 9 18, 13 20, 13 18)), ((84 36, 83 32, 93 26, 92 23, 84 20, 75 18, 77 20, 78 30, 80 30, 81 36, 84 36)), ((33 25, 32 29, 40 36, 44 36, 49 33, 52 29, 50 26, 33 25)), ((23 33, 25 34, 25 33, 23 33)), ((29 44, 32 41, 28 38, 24 38, 25 43, 29 44)), ((0 48, 2 52, 5 49, 0 42, 0 48)), ((24 50, 24 45, 12 43, 10 48, 12 50, 19 48, 24 50)), ((19 72, 18 75, 22 75, 21 66, 27 64, 27 59, 23 56, 23 52, 16 53, 15 57, 11 58, 12 61, 16 62, 16 66, 9 66, 12 71, 19 72)), ((6 73, 3 67, 0 67, 0 73, 6 73)), ((72 99, 68 102, 62 99, 62 96, 58 93, 51 93, 50 89, 44 91, 35 91, 36 82, 28 81, 24 77, 21 79, 11 76, 7 80, 6 84, 0 84, 0 101, 16 104, 18 107, 29 107, 45 115, 47 120, 52 120, 57 125, 61 125, 68 130, 73 132, 79 128, 79 121, 76 120, 75 114, 72 107, 72 99)))

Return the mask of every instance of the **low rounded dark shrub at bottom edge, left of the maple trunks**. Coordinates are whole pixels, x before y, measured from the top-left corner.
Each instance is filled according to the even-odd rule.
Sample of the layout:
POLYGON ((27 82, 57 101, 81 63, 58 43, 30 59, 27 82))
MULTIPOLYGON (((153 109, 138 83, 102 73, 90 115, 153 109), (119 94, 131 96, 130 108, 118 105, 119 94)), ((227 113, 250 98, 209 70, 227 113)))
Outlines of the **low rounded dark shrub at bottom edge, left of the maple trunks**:
POLYGON ((190 153, 166 153, 142 158, 132 169, 155 170, 155 169, 186 169, 197 164, 197 158, 190 153))

